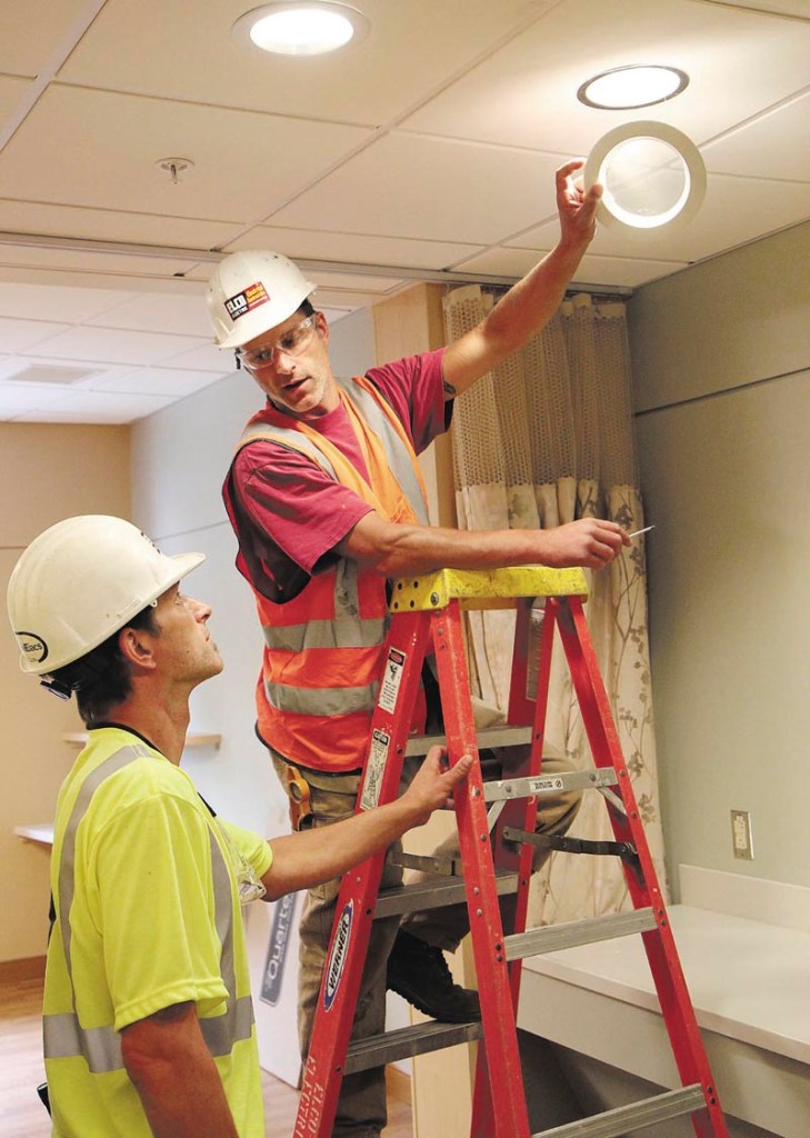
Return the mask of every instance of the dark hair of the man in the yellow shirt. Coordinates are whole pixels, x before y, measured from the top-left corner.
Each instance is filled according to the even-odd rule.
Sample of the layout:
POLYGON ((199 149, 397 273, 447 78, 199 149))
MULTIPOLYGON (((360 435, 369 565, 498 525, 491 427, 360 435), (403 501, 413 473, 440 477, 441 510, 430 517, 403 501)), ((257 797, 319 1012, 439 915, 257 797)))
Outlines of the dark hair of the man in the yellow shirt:
MULTIPOLYGON (((143 628, 157 633, 155 609, 148 605, 127 620, 122 628, 143 628)), ((94 648, 80 660, 57 668, 52 678, 57 684, 57 694, 76 693, 78 714, 88 727, 93 723, 109 718, 113 708, 132 692, 130 666, 118 646, 118 628, 111 636, 94 648), (61 692, 58 691, 61 688, 61 692)), ((69 696, 68 696, 69 698, 69 696)))

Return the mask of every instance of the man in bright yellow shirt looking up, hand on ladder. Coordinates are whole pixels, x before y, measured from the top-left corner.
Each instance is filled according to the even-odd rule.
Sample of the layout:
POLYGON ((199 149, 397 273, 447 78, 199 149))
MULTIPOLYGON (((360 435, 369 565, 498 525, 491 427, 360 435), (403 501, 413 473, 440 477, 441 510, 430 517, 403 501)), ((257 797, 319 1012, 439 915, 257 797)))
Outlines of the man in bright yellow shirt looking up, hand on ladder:
POLYGON ((216 817, 180 760, 189 695, 223 667, 212 610, 180 592, 200 553, 134 526, 58 522, 8 610, 24 671, 89 742, 59 792, 43 1005, 55 1138, 264 1138, 240 901, 344 873, 424 823, 466 775, 438 748, 400 799, 266 842, 216 817))

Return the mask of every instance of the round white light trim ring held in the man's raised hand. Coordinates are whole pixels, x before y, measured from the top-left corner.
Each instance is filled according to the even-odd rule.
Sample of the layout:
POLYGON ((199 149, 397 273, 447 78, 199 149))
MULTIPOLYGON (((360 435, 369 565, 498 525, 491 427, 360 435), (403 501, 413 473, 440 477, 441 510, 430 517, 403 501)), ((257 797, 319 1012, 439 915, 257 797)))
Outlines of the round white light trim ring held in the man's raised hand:
POLYGON ((703 201, 706 170, 697 147, 667 123, 617 126, 588 155, 585 185, 601 182, 597 216, 623 232, 681 225, 703 201))

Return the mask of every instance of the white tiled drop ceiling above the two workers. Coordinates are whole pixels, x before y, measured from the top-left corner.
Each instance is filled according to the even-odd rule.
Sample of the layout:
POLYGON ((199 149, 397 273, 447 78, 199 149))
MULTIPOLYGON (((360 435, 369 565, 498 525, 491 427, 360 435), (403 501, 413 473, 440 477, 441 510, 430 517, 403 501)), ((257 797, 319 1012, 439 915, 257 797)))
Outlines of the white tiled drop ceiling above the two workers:
POLYGON ((233 249, 304 262, 331 319, 518 277, 555 241, 555 167, 634 118, 699 146, 706 197, 672 234, 601 229, 582 286, 810 217, 810 0, 353 2, 362 43, 294 59, 232 39, 258 0, 0 0, 0 420, 131 422, 228 374, 204 291, 233 249), (686 91, 577 101, 648 63, 686 91))

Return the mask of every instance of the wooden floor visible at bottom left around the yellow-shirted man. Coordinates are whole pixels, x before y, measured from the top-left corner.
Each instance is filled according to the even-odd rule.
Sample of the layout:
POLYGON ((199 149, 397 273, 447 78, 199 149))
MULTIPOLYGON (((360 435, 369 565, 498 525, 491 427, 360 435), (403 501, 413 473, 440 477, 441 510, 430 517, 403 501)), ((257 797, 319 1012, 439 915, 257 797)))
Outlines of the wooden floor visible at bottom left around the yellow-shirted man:
MULTIPOLYGON (((3 980, 0 989, 0 1135, 2 1138, 49 1138, 50 1124, 36 1097, 44 1081, 40 1012, 42 981, 3 980)), ((290 1138, 298 1094, 262 1072, 266 1138, 290 1138)), ((411 1105, 391 1098, 386 1138, 411 1138, 411 1105)))

